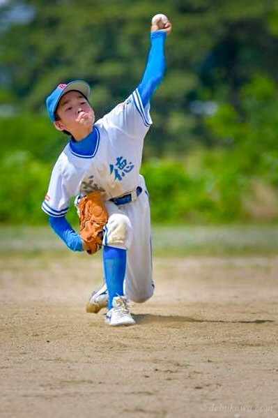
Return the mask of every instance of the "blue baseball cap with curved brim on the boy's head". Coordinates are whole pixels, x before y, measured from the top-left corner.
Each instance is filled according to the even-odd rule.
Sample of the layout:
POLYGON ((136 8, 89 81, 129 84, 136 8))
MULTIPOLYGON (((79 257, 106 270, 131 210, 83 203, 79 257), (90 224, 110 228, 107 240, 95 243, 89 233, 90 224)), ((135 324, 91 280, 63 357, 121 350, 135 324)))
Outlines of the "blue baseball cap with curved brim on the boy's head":
POLYGON ((68 84, 59 84, 47 97, 45 103, 50 120, 55 121, 55 110, 61 97, 68 91, 80 91, 86 98, 90 96, 90 86, 82 80, 75 80, 68 84))

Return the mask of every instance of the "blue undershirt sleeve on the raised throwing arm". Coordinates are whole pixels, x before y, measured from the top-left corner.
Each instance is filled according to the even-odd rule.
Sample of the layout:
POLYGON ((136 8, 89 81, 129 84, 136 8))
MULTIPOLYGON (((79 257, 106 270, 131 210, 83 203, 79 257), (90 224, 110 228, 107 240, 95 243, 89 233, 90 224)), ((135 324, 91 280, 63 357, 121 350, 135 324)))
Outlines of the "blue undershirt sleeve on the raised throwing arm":
POLYGON ((159 86, 164 76, 165 57, 164 43, 166 33, 164 31, 155 31, 150 33, 150 52, 148 61, 138 86, 143 106, 152 98, 155 89, 159 86))

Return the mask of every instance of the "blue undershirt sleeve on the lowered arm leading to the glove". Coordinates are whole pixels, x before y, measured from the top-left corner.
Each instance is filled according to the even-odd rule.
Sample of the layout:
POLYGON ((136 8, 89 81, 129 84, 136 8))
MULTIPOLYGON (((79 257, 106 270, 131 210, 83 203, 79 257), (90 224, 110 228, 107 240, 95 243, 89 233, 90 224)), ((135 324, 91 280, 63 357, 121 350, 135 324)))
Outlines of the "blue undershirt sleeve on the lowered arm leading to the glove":
POLYGON ((70 226, 70 223, 65 219, 65 216, 61 218, 55 218, 49 216, 49 225, 54 232, 64 241, 65 245, 72 251, 83 251, 82 239, 79 234, 75 232, 70 226))

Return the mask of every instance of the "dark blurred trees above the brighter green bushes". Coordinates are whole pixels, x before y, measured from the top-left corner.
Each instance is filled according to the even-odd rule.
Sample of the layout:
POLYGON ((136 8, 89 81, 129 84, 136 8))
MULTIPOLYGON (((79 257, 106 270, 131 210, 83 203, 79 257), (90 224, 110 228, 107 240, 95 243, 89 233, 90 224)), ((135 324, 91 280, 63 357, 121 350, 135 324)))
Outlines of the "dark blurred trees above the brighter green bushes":
POLYGON ((82 78, 99 117, 137 86, 150 17, 169 15, 168 68, 155 94, 146 156, 215 144, 203 117, 216 107, 206 103, 230 103, 244 118, 242 86, 258 72, 277 82, 276 0, 10 0, 5 13, 19 4, 29 20, 10 18, 0 39, 0 84, 13 103, 43 112, 57 83, 82 78))

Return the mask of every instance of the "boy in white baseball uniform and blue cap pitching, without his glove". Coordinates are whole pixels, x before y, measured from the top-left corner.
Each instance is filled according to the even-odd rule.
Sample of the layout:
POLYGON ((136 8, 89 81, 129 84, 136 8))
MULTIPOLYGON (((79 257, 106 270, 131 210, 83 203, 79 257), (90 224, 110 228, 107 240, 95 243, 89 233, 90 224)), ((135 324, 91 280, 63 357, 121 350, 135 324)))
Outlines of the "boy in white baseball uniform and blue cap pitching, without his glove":
POLYGON ((153 17, 141 82, 102 119, 95 121, 84 81, 59 84, 46 100, 49 118, 56 129, 70 134, 70 140, 54 165, 42 209, 68 248, 86 251, 86 241, 65 214, 72 196, 100 192, 108 214, 102 239, 105 284, 93 292, 87 311, 96 313, 108 305, 105 322, 112 326, 134 324, 129 299, 144 302, 153 295, 150 208, 139 170, 144 137, 152 124, 149 102, 164 75, 164 40, 169 33, 167 17, 153 17))

